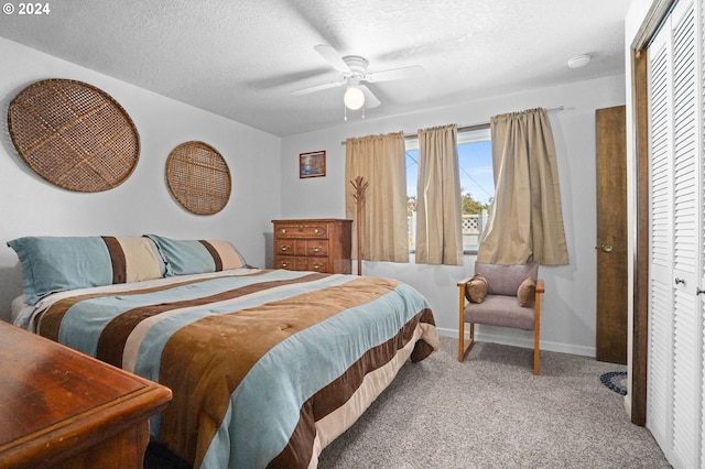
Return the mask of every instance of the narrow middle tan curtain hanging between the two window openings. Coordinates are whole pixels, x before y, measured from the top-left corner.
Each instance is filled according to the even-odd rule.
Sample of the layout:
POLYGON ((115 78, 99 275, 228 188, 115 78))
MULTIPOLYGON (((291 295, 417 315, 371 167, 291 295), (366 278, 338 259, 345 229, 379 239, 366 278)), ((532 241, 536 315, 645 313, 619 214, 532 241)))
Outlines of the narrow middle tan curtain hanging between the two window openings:
POLYGON ((463 265, 456 124, 419 130, 416 263, 463 265))

